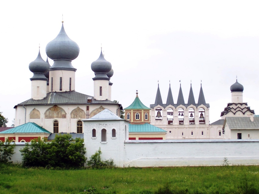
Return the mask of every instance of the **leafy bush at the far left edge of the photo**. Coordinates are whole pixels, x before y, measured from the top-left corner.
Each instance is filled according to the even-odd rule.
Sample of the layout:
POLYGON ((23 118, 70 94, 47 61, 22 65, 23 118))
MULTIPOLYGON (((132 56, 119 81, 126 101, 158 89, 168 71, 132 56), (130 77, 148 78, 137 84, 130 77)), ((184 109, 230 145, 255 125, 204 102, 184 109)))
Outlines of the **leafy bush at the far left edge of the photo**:
POLYGON ((12 143, 12 140, 6 138, 4 142, 0 142, 0 161, 8 162, 11 160, 12 154, 15 153, 15 144, 12 143))

